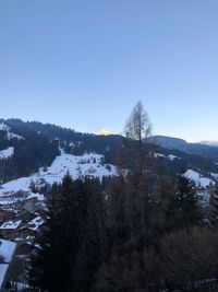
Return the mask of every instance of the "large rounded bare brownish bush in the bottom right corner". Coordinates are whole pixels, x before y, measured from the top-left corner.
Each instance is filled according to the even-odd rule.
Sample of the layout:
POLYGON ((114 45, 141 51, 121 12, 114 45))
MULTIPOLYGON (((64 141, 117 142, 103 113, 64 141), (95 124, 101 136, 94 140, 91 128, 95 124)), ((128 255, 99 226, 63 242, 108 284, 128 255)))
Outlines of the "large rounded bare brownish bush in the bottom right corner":
POLYGON ((202 285, 218 276, 218 233, 194 227, 171 233, 160 243, 164 278, 172 287, 202 285))

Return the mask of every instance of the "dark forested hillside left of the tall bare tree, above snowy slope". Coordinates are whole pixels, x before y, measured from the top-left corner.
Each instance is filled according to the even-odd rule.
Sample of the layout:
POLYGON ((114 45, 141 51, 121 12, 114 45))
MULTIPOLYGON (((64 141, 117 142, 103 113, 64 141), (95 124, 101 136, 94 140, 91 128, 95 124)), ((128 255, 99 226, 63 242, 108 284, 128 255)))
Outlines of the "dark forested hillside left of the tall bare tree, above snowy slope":
POLYGON ((114 162, 121 144, 118 136, 100 137, 20 119, 0 122, 0 151, 9 147, 14 149, 11 156, 0 159, 1 182, 28 176, 39 167, 50 166, 60 149, 74 155, 100 153, 106 162, 114 162))

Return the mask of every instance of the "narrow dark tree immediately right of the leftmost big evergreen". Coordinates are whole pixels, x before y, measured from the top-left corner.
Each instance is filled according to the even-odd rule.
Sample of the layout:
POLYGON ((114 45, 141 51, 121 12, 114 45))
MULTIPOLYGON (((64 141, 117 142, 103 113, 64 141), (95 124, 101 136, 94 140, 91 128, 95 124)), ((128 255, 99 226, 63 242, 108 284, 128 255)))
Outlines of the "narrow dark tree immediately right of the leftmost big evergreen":
POLYGON ((80 187, 80 245, 76 257, 74 290, 89 292, 95 275, 106 258, 106 210, 99 179, 78 180, 80 187))

